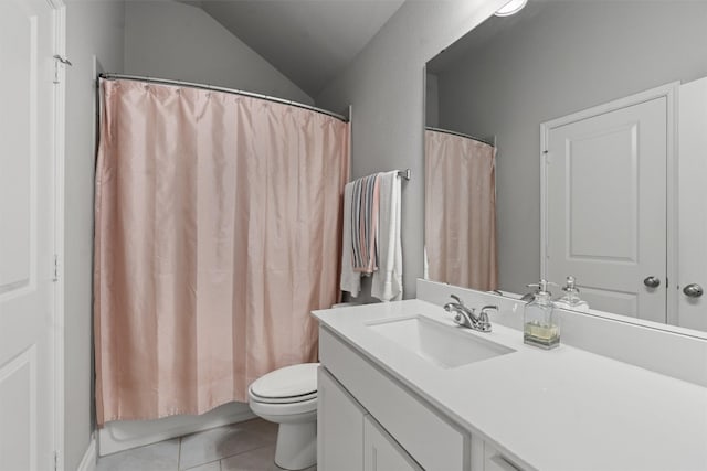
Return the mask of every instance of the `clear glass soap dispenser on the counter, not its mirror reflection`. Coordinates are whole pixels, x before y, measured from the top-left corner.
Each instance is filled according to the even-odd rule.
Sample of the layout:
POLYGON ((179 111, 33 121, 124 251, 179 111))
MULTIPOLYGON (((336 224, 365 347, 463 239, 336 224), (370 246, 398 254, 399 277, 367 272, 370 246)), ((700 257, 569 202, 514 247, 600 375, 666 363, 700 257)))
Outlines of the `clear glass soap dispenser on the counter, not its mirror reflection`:
POLYGON ((540 280, 537 285, 528 285, 528 287, 537 287, 538 292, 535 299, 526 304, 523 320, 524 343, 546 350, 555 349, 560 344, 559 318, 555 312, 548 285, 555 283, 540 280))

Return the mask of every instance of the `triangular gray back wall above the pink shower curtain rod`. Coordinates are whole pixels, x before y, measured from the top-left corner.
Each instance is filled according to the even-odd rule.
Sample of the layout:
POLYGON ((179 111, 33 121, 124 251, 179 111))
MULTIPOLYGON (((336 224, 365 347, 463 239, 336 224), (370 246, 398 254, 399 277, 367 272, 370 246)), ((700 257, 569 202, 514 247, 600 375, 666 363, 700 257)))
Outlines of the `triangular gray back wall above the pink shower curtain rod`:
POLYGON ((125 72, 314 104, 203 10, 173 1, 127 1, 125 72))

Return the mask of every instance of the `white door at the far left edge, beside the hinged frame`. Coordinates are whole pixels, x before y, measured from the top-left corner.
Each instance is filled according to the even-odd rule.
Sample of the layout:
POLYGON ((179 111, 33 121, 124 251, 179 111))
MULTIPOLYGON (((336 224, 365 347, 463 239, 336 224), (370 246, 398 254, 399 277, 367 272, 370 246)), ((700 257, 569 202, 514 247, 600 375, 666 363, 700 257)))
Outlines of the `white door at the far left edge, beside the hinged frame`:
POLYGON ((0 470, 53 469, 53 11, 0 0, 0 470))

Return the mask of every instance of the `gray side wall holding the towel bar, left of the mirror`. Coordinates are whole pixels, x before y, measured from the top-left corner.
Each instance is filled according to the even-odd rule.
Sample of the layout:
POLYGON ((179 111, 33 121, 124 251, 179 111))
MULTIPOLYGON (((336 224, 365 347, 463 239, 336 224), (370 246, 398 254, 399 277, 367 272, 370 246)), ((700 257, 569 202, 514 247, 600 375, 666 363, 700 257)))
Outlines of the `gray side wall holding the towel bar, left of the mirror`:
MULTIPOLYGON (((415 297, 415 279, 423 275, 424 64, 503 3, 505 0, 407 1, 316 98, 324 108, 354 106, 352 178, 389 169, 412 170, 412 180, 402 185, 404 298, 415 297)), ((361 298, 367 300, 367 293, 361 298)))

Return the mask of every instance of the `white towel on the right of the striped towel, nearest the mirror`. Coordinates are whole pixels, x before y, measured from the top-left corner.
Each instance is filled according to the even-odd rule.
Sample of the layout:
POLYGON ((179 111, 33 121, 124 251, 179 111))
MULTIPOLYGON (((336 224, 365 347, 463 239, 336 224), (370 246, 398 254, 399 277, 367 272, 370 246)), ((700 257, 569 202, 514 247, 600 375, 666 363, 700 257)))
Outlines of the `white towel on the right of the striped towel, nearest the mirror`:
POLYGON ((379 266, 378 271, 373 272, 371 285, 371 296, 381 301, 399 301, 402 299, 400 206, 400 178, 398 172, 382 173, 380 175, 380 211, 378 213, 379 266))

